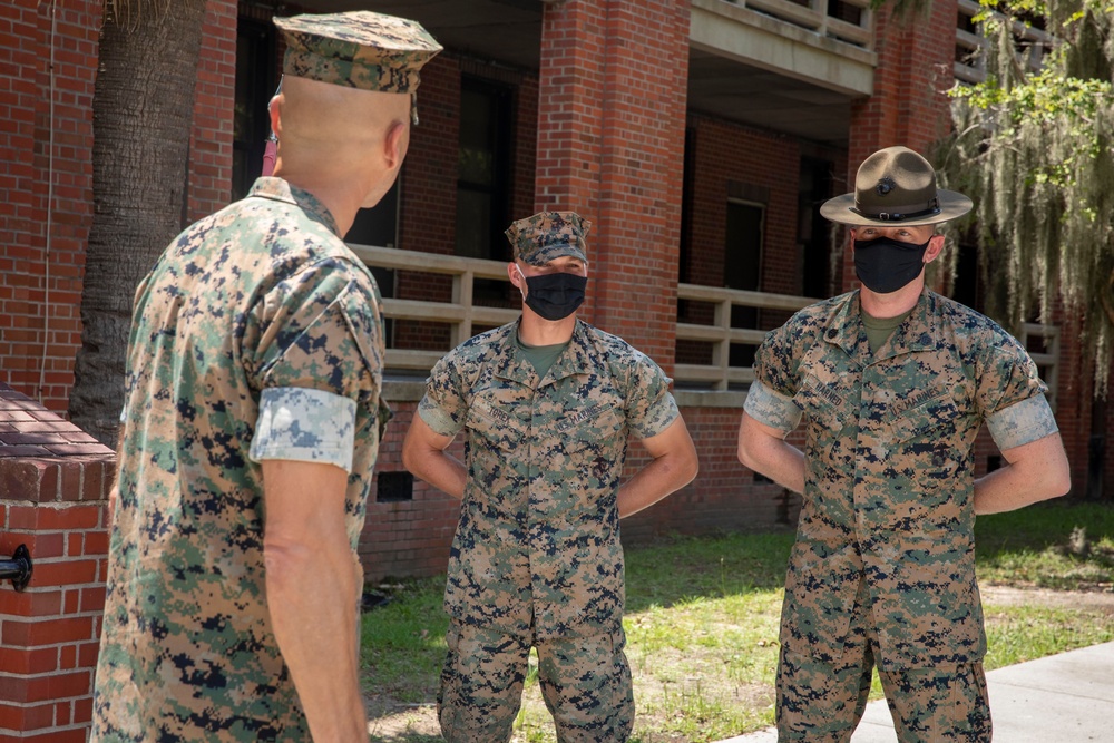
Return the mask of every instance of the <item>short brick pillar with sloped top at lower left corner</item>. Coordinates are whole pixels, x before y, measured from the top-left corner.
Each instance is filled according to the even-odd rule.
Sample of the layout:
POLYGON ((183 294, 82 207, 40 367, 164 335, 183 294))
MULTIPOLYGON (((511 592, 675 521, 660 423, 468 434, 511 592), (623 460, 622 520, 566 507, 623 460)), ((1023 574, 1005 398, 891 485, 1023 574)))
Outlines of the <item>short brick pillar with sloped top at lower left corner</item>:
POLYGON ((33 574, 0 584, 0 743, 84 743, 105 607, 110 449, 0 384, 0 557, 33 574))

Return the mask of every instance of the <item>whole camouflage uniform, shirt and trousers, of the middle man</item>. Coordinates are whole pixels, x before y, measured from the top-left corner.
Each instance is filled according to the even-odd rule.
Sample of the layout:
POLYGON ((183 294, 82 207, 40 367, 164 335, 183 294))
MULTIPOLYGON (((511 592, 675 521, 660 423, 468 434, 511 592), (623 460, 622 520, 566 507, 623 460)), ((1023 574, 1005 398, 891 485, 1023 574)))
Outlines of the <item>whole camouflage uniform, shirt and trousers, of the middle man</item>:
POLYGON ((670 380, 580 321, 539 379, 518 323, 432 370, 418 413, 465 431, 468 479, 449 558, 452 618, 439 708, 450 743, 506 741, 530 646, 560 741, 623 741, 634 721, 623 654, 619 478, 627 439, 678 416, 670 380))

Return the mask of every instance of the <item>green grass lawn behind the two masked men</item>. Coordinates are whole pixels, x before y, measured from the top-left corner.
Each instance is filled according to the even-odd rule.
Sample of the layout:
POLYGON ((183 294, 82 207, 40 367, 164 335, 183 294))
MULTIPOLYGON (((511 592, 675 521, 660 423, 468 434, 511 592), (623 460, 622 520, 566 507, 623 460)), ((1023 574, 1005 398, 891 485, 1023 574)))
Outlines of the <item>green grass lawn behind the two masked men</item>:
MULTIPOLYGON (((981 517, 976 540, 987 669, 1114 641, 1114 508, 1053 502, 981 517)), ((772 723, 792 541, 786 530, 674 537, 627 550, 633 743, 716 741, 772 723)), ((364 615, 373 741, 440 740, 432 706, 448 626, 443 586, 443 576, 389 586, 391 602, 364 615)), ((531 674, 515 741, 554 740, 531 674)))

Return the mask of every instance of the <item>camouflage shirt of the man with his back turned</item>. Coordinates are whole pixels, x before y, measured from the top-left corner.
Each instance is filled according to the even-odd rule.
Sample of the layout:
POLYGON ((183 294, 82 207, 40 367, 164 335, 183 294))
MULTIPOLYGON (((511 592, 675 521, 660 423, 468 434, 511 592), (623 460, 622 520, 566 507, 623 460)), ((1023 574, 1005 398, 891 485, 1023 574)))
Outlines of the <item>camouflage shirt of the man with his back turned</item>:
POLYGON ((346 465, 355 548, 384 419, 374 280, 320 202, 262 178, 136 296, 92 740, 306 741, 256 460, 346 465))

